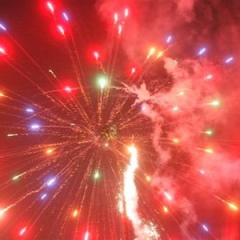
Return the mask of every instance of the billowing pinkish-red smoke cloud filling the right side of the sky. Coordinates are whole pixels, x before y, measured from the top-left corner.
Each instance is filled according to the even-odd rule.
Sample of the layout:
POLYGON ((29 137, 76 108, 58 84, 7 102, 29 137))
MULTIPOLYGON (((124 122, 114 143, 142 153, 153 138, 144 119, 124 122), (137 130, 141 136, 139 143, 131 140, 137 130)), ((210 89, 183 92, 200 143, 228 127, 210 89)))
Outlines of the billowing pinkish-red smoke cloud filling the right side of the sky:
MULTIPOLYGON (((131 8, 131 17, 121 40, 129 60, 143 63, 151 46, 164 50, 162 66, 170 79, 167 90, 161 88, 167 80, 160 80, 153 91, 144 74, 135 85, 124 87, 153 125, 151 137, 159 166, 153 186, 163 197, 172 192, 172 206, 184 216, 180 222, 184 239, 192 239, 189 229, 198 221, 194 208, 197 196, 205 200, 224 197, 240 182, 240 1, 98 3, 100 13, 109 21, 112 12, 125 7, 131 8), (169 34, 173 42, 166 47, 169 34), (206 54, 199 56, 203 46, 206 54), (206 135, 212 134, 212 128, 210 138, 206 135), (196 197, 191 199, 189 192, 196 197)), ((149 60, 150 66, 155 63, 149 60)), ((162 72, 159 69, 158 79, 162 72)))

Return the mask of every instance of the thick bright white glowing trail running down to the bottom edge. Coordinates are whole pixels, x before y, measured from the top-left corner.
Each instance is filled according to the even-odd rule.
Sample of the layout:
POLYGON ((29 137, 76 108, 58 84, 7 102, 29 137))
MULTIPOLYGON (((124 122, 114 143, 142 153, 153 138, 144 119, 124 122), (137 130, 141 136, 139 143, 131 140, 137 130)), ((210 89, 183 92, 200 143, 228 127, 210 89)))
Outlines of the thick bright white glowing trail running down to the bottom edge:
POLYGON ((137 212, 138 192, 134 182, 135 172, 138 168, 138 154, 134 145, 128 148, 131 153, 130 164, 124 173, 124 199, 126 215, 132 222, 136 240, 160 239, 155 226, 150 223, 144 224, 137 212))

